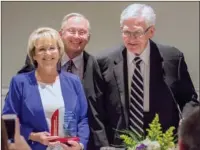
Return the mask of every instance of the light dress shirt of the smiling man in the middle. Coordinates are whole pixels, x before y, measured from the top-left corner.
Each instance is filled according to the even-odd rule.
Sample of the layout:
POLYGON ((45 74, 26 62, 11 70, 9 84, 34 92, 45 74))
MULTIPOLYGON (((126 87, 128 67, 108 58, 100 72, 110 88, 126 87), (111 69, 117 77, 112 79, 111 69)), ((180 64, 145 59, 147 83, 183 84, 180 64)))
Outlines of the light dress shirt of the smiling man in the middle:
MULTIPOLYGON (((64 66, 69 60, 70 58, 65 53, 62 57, 61 65, 64 66)), ((84 65, 83 52, 80 55, 74 57, 72 61, 75 65, 75 66, 72 66, 73 74, 79 76, 79 78, 82 80, 83 79, 83 65, 84 65)))

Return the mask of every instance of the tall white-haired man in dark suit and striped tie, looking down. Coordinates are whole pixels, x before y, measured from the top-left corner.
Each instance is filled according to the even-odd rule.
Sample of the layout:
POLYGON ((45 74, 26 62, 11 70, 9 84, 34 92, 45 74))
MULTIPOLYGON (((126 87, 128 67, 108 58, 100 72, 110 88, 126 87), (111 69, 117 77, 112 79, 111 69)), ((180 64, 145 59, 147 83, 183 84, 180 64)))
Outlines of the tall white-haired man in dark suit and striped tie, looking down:
POLYGON ((105 133, 96 132, 96 139, 104 146, 122 144, 117 130, 145 135, 156 113, 164 131, 170 126, 177 129, 185 104, 197 102, 183 53, 151 40, 155 20, 150 6, 128 6, 120 21, 124 44, 98 58, 105 98, 93 107, 105 133))

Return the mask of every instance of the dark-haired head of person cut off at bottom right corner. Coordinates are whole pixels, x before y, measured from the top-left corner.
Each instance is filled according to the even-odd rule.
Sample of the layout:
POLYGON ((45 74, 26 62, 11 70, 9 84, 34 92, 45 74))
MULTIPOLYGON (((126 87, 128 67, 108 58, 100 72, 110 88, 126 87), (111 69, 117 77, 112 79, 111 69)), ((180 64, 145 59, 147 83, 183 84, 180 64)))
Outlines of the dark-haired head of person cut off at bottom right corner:
POLYGON ((179 138, 187 150, 200 150, 200 106, 182 121, 179 138))

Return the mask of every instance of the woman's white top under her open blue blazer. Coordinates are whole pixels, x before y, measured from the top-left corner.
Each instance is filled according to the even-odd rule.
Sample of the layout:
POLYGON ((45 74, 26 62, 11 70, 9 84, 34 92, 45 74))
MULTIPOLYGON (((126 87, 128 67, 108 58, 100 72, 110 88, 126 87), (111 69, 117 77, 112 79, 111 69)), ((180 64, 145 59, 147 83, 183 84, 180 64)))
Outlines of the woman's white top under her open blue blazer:
MULTIPOLYGON (((64 99, 62 96, 60 78, 57 77, 56 81, 52 84, 46 84, 42 82, 38 82, 38 89, 40 93, 40 97, 42 100, 42 105, 45 113, 45 117, 47 120, 47 125, 49 130, 51 129, 51 116, 52 114, 59 109, 59 121, 64 122, 64 99)), ((59 124, 59 135, 64 136, 63 124, 59 124)), ((82 149, 84 149, 84 145, 80 143, 82 149)), ((46 150, 63 150, 60 144, 47 147, 46 150)))

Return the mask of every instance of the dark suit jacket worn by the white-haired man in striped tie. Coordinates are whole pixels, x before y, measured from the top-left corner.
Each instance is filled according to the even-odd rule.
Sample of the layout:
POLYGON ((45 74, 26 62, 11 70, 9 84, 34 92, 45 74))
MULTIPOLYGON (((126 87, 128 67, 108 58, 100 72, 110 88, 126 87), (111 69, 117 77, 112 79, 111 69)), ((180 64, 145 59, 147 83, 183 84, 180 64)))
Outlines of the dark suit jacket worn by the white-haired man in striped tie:
MULTIPOLYGON (((98 136, 102 145, 109 143, 121 145, 117 130, 128 129, 129 91, 127 75, 127 50, 122 45, 107 50, 98 59, 103 81, 100 85, 104 101, 98 107, 97 123, 104 124, 98 136), (102 106, 102 108, 100 108, 102 106), (104 112, 104 113, 102 113, 104 112), (99 118, 104 118, 99 120, 99 118)), ((183 53, 174 47, 164 46, 150 41, 150 111, 144 113, 144 128, 159 114, 164 130, 170 126, 178 127, 179 111, 193 99, 197 99, 191 82, 183 53)), ((95 106, 93 106, 95 107, 95 106)), ((97 116, 96 115, 96 116, 97 116)))

